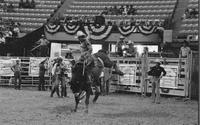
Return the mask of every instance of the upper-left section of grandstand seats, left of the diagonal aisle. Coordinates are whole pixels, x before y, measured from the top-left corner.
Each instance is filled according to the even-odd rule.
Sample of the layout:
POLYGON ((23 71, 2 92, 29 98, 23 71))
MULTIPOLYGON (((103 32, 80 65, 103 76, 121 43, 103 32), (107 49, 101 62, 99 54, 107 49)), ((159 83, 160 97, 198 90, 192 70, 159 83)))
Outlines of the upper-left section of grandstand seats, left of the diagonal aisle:
POLYGON ((47 22, 47 19, 56 11, 61 5, 61 1, 57 0, 36 0, 35 8, 19 8, 20 0, 4 0, 0 3, 1 6, 11 4, 14 6, 13 12, 0 12, 0 17, 3 20, 12 19, 14 22, 21 24, 20 29, 22 33, 30 33, 47 22))

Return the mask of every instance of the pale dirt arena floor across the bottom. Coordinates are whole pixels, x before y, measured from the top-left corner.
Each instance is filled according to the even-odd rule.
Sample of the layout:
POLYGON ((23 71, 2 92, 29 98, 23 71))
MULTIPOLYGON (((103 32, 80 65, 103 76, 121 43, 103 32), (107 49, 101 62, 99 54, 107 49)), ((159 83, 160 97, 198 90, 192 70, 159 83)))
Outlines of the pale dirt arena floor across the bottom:
MULTIPOLYGON (((153 104, 150 97, 113 93, 100 96, 84 113, 69 98, 49 97, 49 91, 0 88, 0 125, 197 125, 198 102, 162 97, 153 104)), ((91 100, 90 100, 91 102, 91 100)))

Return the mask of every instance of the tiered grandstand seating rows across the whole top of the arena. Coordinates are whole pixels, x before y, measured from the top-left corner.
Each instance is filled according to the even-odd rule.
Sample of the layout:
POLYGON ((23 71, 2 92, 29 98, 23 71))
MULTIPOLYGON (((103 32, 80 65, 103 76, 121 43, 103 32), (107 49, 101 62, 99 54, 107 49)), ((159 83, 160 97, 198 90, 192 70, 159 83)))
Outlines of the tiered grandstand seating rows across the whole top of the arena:
MULTIPOLYGON (((177 4, 180 0, 66 0, 64 2, 56 0, 36 0, 35 8, 19 8, 19 0, 4 0, 4 3, 12 3, 14 6, 14 12, 0 12, 0 17, 3 20, 12 19, 15 22, 21 24, 20 30, 22 33, 30 33, 44 24, 48 23, 55 15, 57 11, 60 12, 64 17, 95 17, 99 15, 106 7, 114 7, 121 5, 133 5, 133 8, 136 9, 136 13, 133 15, 104 15, 106 22, 120 22, 120 21, 130 21, 134 20, 157 20, 160 22, 165 22, 170 20, 171 24, 173 22, 174 14, 177 10, 177 4), (64 4, 62 4, 64 3, 64 4), (67 4, 66 4, 67 3, 67 4), (60 7, 60 8, 59 8, 60 7), (63 9, 64 8, 64 9, 63 9), (61 11, 62 10, 62 11, 61 11)), ((0 3, 2 6, 4 3, 0 3)), ((197 0, 189 0, 189 4, 185 8, 197 8, 197 0)), ((197 8, 198 9, 198 8, 197 8)), ((181 18, 181 15, 179 15, 181 18)), ((179 22, 178 22, 179 23, 179 22)), ((183 19, 181 21, 181 26, 179 26, 178 33, 175 33, 176 36, 184 36, 187 38, 187 35, 197 35, 198 33, 198 18, 189 18, 183 19)), ((172 30, 172 25, 170 26, 172 30)))

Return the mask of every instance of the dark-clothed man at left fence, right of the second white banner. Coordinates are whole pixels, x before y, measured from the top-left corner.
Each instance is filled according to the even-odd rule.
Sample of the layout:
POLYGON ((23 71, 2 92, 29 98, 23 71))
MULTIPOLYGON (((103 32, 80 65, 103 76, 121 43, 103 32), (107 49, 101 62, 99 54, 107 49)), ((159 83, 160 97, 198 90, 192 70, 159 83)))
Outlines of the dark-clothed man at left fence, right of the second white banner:
POLYGON ((45 66, 45 63, 46 63, 47 59, 43 60, 40 64, 39 64, 39 85, 38 85, 38 90, 39 91, 45 91, 45 72, 46 72, 46 66, 45 66))

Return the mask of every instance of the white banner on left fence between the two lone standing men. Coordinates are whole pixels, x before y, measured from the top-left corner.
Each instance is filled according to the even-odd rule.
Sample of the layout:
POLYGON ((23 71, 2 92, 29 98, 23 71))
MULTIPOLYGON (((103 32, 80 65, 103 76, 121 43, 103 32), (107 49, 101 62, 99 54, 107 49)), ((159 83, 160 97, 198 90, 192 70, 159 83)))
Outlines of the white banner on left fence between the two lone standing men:
MULTIPOLYGON (((29 76, 39 76, 39 64, 45 59, 45 57, 30 57, 29 76)), ((45 75, 48 75, 48 71, 45 75)))

